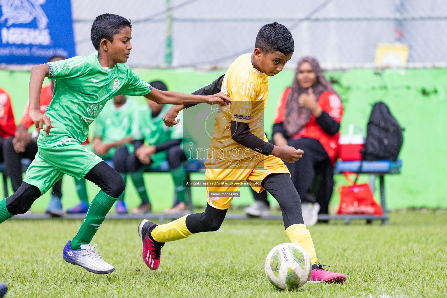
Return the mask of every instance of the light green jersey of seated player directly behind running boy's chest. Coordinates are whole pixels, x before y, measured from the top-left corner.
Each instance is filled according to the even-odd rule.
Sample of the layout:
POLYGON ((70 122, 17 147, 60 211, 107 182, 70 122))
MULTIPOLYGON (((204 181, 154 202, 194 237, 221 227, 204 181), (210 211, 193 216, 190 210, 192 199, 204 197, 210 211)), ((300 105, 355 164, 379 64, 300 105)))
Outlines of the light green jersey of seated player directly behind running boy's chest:
POLYGON ((100 137, 102 143, 113 143, 132 135, 132 123, 140 104, 127 99, 126 103, 116 108, 113 101, 105 104, 95 121, 95 137, 100 137))

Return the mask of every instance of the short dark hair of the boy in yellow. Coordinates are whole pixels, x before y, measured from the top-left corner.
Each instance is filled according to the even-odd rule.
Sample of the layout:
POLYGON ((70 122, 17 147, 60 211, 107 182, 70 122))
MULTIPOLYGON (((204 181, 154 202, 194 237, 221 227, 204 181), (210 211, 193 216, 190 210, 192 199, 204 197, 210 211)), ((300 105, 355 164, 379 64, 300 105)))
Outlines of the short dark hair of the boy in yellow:
POLYGON ((289 29, 277 22, 263 25, 259 29, 255 47, 261 49, 264 55, 277 51, 284 55, 290 55, 295 50, 293 37, 289 29))

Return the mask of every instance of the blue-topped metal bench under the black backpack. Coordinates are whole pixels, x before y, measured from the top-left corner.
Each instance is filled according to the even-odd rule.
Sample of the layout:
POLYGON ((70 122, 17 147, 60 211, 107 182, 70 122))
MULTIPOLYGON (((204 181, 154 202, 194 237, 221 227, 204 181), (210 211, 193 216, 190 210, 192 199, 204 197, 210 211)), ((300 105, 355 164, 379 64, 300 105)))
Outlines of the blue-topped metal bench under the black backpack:
POLYGON ((321 214, 318 219, 344 219, 346 224, 349 224, 351 219, 366 219, 368 223, 372 220, 381 220, 382 224, 388 223, 388 212, 386 208, 385 197, 385 175, 387 174, 399 174, 402 168, 402 160, 378 160, 378 161, 337 161, 335 164, 335 174, 341 174, 342 172, 358 172, 362 163, 362 171, 360 174, 369 174, 369 186, 371 191, 375 190, 375 177, 379 176, 380 182, 380 205, 382 207, 382 216, 370 215, 370 214, 340 214, 329 215, 321 214))

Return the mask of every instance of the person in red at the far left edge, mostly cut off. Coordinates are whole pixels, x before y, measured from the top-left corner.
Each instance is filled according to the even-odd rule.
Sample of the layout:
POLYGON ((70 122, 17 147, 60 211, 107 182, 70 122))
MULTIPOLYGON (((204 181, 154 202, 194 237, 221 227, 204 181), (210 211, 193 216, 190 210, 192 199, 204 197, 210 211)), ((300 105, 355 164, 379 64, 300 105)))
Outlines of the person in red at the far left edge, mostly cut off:
POLYGON ((9 94, 0 88, 0 162, 4 161, 3 144, 14 135, 16 122, 9 94))

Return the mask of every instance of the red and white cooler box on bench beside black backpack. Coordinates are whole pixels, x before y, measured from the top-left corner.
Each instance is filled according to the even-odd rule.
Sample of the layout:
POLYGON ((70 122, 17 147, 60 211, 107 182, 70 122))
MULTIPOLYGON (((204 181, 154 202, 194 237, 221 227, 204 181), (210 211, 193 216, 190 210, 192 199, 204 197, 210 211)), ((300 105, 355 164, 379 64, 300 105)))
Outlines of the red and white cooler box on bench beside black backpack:
POLYGON ((342 134, 338 139, 339 153, 338 157, 343 161, 362 160, 360 149, 365 144, 363 138, 363 130, 361 127, 354 124, 348 126, 348 134, 342 134), (354 134, 354 129, 358 130, 357 134, 354 134))

